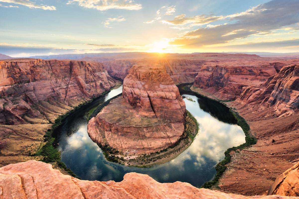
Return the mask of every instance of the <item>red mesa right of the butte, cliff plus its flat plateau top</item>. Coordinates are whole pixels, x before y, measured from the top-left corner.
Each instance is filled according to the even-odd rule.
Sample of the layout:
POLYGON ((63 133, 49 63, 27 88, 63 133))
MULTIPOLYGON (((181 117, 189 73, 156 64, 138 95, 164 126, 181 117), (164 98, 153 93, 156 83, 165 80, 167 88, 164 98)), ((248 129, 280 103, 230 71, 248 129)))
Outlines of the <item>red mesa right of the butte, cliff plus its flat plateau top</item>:
POLYGON ((274 61, 257 55, 235 54, 218 57, 202 65, 194 86, 222 100, 237 99, 243 87, 258 87, 283 66, 297 60, 274 61))

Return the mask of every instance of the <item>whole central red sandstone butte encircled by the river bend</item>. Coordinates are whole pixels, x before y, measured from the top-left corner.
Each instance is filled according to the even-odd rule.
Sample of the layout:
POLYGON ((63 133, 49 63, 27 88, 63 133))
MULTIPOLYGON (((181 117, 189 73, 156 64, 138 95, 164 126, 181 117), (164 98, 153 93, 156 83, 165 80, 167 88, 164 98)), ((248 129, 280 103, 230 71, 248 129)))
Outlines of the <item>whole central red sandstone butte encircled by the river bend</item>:
POLYGON ((126 155, 149 154, 173 145, 184 131, 186 106, 165 67, 135 64, 123 94, 88 123, 91 139, 126 155))

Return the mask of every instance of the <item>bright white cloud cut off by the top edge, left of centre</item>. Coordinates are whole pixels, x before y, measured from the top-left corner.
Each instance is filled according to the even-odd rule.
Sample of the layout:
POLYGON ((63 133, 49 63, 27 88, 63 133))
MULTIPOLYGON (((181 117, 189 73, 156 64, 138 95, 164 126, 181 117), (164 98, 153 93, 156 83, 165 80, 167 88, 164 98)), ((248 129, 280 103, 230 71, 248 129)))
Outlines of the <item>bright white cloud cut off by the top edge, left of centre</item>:
POLYGON ((67 4, 77 2, 79 6, 93 8, 100 11, 109 9, 140 10, 141 4, 134 4, 133 0, 69 0, 67 4))

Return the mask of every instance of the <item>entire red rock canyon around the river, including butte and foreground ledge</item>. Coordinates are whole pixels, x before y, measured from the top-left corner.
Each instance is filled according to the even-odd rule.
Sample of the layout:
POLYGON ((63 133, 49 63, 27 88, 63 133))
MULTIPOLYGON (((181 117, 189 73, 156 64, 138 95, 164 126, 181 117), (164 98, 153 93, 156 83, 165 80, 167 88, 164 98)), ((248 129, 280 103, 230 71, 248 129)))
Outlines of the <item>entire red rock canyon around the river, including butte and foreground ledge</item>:
POLYGON ((134 56, 101 58, 103 64, 95 57, 84 57, 88 62, 0 61, 2 198, 298 196, 298 59, 224 53, 134 56), (125 155, 157 152, 181 138, 186 113, 175 84, 194 81, 194 92, 225 103, 246 119, 257 144, 231 152, 219 180, 226 193, 188 183, 158 183, 136 173, 126 174, 121 182, 81 181, 50 164, 29 161, 38 160, 29 152, 41 147, 55 119, 111 89, 117 82, 112 77, 123 79, 123 94, 91 118, 88 133, 97 144, 125 155), (49 191, 53 189, 58 191, 49 191))

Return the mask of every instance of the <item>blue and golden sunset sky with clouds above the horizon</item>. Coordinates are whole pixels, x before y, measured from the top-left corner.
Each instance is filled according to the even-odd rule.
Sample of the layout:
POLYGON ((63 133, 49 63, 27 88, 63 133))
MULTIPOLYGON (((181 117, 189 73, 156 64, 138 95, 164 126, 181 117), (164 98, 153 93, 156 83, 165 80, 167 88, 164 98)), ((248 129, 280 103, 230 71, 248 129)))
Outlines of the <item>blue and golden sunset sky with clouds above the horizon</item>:
POLYGON ((299 52, 299 0, 0 0, 0 53, 299 52))

